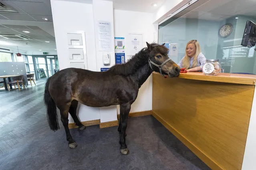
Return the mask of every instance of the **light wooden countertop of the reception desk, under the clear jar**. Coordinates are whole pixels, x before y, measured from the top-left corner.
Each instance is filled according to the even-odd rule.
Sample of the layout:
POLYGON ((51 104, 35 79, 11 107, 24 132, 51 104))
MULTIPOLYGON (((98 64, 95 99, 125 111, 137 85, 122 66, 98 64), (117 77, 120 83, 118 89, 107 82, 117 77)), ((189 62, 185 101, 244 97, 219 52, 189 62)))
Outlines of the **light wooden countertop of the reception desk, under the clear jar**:
MULTIPOLYGON (((157 72, 153 72, 153 73, 159 74, 157 72)), ((202 80, 202 81, 215 81, 215 82, 223 82, 223 83, 246 84, 246 85, 256 84, 256 75, 248 75, 248 74, 219 73, 216 76, 210 76, 210 75, 203 75, 202 72, 188 72, 188 73, 180 73, 179 78, 202 80)))

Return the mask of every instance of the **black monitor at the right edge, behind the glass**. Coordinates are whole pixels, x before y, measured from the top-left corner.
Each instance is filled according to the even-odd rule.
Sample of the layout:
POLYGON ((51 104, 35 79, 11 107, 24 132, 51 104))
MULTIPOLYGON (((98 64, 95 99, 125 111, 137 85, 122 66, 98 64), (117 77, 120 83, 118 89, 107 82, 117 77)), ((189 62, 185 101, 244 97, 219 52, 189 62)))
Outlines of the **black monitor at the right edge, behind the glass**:
POLYGON ((256 42, 256 24, 248 20, 244 28, 244 35, 241 45, 244 47, 253 47, 256 42))

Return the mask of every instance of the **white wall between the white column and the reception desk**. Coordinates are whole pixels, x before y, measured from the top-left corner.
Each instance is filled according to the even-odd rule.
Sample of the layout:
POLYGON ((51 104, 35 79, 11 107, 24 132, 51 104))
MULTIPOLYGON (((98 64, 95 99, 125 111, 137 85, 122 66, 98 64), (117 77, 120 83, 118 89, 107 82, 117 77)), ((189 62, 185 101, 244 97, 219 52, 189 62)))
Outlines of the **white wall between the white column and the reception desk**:
MULTIPOLYGON (((141 33, 142 46, 146 47, 146 42, 157 42, 155 34, 157 29, 153 25, 153 14, 145 12, 133 12, 124 10, 114 10, 115 37, 125 37, 125 60, 131 56, 129 49, 131 45, 128 43, 129 33, 141 33), (154 34, 155 33, 155 34, 154 34)), ((130 112, 148 111, 152 109, 152 77, 139 89, 139 94, 135 102, 131 106, 130 112)))

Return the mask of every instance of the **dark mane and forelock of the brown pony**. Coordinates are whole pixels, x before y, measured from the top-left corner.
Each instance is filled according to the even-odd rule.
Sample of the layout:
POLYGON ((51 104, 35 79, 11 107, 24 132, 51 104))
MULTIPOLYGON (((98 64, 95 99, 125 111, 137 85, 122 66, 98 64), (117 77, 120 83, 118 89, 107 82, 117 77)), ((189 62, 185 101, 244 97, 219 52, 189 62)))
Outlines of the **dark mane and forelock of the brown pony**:
MULTIPOLYGON (((149 48, 161 54, 168 53, 168 49, 166 47, 158 45, 157 43, 151 43, 149 48)), ((134 74, 141 66, 148 62, 150 53, 149 48, 145 47, 141 49, 138 53, 133 55, 127 63, 114 65, 108 70, 108 72, 121 75, 134 74)))

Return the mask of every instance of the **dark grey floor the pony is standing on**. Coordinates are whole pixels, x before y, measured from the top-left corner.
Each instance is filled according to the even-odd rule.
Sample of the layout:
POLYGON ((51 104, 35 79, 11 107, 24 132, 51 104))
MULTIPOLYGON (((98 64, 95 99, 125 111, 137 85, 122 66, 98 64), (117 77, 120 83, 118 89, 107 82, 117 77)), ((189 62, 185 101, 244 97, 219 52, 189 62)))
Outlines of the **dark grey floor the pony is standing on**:
POLYGON ((117 127, 71 129, 78 146, 69 149, 61 121, 56 132, 48 127, 42 101, 44 83, 0 92, 1 170, 210 169, 151 115, 129 118, 127 156, 119 151, 117 127))

